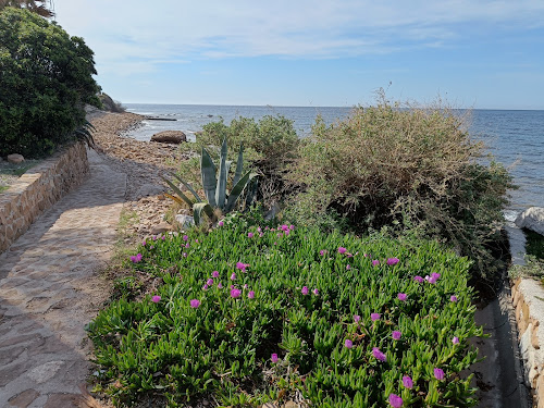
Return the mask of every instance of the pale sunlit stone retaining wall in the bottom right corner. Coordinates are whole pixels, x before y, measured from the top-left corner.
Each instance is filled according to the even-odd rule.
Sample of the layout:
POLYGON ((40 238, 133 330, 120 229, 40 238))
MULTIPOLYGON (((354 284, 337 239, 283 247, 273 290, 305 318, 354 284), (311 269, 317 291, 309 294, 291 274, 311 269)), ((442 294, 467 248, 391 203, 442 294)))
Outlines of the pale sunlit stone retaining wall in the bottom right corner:
POLYGON ((544 408, 544 288, 539 281, 518 277, 511 294, 526 382, 535 406, 544 408))

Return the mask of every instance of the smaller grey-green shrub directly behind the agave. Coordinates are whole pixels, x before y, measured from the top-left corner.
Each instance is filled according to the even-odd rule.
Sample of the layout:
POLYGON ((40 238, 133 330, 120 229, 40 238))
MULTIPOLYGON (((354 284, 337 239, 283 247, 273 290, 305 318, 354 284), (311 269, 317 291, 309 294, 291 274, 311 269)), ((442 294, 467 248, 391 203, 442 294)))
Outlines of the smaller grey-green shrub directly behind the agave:
MULTIPOLYGON (((202 132, 197 134, 196 143, 185 144, 182 149, 201 151, 206 148, 217 160, 225 138, 231 146, 244 145, 244 166, 263 175, 259 196, 265 201, 281 197, 284 188, 283 173, 286 165, 297 157, 299 145, 293 121, 281 115, 267 115, 259 122, 252 118, 236 118, 230 125, 225 125, 221 119, 205 125, 202 132)), ((232 152, 227 160, 236 160, 235 152, 232 152)), ((180 174, 199 187, 196 159, 183 162, 180 174)))

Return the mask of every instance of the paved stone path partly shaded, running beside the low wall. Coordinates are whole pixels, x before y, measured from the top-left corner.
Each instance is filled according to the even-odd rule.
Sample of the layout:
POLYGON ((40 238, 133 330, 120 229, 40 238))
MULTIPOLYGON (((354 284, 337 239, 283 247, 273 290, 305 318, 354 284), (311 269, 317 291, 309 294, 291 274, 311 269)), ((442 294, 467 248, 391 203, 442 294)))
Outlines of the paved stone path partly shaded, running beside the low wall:
POLYGON ((0 255, 0 407, 86 407, 84 326, 107 296, 109 259, 126 189, 89 151, 90 177, 0 255), (85 390, 84 390, 85 392, 85 390))

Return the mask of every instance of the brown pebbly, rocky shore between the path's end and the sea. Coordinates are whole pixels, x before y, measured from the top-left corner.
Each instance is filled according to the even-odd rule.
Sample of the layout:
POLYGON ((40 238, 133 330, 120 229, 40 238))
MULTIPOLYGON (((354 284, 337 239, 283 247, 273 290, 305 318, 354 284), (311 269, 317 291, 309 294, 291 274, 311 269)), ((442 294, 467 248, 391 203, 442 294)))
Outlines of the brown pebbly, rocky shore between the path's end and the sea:
POLYGON ((95 127, 95 150, 114 171, 127 175, 125 210, 137 222, 127 225, 128 235, 139 240, 169 228, 164 214, 172 201, 162 195, 168 191, 160 174, 176 170, 176 163, 189 157, 176 145, 136 140, 123 136, 139 125, 145 116, 135 113, 89 112, 87 119, 95 127))

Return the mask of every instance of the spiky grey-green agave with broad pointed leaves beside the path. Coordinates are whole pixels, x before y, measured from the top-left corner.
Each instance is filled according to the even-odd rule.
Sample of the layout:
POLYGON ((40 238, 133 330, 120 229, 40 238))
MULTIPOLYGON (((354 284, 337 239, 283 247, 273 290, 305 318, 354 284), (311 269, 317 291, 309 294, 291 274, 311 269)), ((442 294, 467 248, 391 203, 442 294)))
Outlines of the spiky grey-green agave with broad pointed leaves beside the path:
POLYGON ((205 190, 207 201, 202 201, 195 189, 181 177, 172 174, 180 183, 182 183, 194 196, 195 199, 189 199, 171 180, 162 177, 166 184, 172 187, 172 189, 177 194, 177 196, 166 194, 171 199, 183 203, 187 202, 193 208, 193 218, 195 224, 200 224, 202 220, 202 213, 206 213, 208 218, 213 219, 215 210, 221 210, 222 213, 227 213, 232 211, 242 193, 246 190, 246 206, 250 206, 255 197, 256 190, 256 173, 250 171, 246 174, 243 173, 243 158, 244 158, 244 147, 240 146, 238 152, 238 161, 236 163, 236 171, 233 178, 233 188, 231 191, 226 189, 228 171, 232 162, 226 160, 226 139, 223 140, 221 146, 221 156, 219 162, 219 170, 213 163, 208 151, 202 148, 202 154, 200 158, 200 177, 202 181, 202 187, 205 190))

